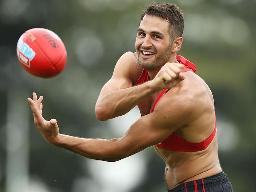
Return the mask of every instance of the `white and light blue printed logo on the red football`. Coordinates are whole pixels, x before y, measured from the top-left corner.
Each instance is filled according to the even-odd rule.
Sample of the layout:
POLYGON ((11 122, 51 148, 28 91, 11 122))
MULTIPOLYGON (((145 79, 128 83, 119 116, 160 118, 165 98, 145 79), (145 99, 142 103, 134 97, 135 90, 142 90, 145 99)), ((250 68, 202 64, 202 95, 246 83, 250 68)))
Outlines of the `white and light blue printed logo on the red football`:
POLYGON ((23 35, 20 36, 17 43, 17 56, 19 61, 28 67, 30 67, 30 61, 35 57, 33 49, 23 41, 23 35))

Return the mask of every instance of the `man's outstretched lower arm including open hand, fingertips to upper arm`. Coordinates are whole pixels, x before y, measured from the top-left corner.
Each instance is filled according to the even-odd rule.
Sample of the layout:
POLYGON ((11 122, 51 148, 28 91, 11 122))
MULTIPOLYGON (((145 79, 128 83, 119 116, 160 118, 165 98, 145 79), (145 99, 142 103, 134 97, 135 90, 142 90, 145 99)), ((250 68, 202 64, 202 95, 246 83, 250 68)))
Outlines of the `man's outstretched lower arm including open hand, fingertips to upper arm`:
POLYGON ((137 120, 123 137, 112 140, 88 139, 60 134, 57 121, 55 119, 46 121, 41 115, 42 100, 43 97, 37 100, 35 93, 33 100, 28 98, 34 122, 43 137, 50 144, 78 153, 83 157, 103 161, 118 161, 161 142, 175 130, 188 124, 189 120, 184 119, 184 116, 191 114, 191 107, 184 105, 183 100, 178 96, 172 99, 164 96, 154 113, 137 120))

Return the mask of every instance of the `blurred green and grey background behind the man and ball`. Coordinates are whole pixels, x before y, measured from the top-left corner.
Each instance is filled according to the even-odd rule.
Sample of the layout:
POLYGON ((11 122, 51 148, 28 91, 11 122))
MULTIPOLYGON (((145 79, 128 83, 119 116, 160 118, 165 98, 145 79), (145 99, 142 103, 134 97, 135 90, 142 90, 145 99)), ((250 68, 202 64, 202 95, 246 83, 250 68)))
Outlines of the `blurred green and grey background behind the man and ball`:
MULTIPOLYGON (((85 159, 50 146, 33 125, 26 98, 44 96, 43 115, 60 132, 121 137, 140 116, 99 122, 94 106, 115 63, 135 52, 144 0, 0 0, 0 192, 161 192, 165 164, 153 148, 119 162, 85 159), (50 79, 28 74, 16 56, 30 28, 47 28, 67 49, 67 66, 50 79)), ((164 1, 157 1, 163 3, 164 1)), ((236 192, 256 188, 256 0, 173 0, 184 13, 179 54, 215 98, 219 159, 236 192)))

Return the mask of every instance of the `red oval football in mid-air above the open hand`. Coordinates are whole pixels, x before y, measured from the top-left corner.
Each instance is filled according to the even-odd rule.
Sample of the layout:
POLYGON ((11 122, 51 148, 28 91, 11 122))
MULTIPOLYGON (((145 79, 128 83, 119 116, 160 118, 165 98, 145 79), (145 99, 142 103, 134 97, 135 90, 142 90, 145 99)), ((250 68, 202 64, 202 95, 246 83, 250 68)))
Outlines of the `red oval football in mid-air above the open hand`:
POLYGON ((58 75, 67 62, 66 48, 61 39, 44 28, 30 29, 20 36, 17 56, 27 72, 41 78, 58 75))

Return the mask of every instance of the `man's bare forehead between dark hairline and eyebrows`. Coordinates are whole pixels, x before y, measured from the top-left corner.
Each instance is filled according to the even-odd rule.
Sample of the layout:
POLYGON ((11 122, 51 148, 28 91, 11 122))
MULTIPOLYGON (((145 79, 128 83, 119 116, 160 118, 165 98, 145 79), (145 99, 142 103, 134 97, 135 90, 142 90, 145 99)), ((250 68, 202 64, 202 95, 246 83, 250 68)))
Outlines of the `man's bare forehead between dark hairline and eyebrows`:
POLYGON ((165 34, 169 30, 169 22, 161 17, 145 15, 139 24, 139 28, 144 31, 159 31, 165 34))

